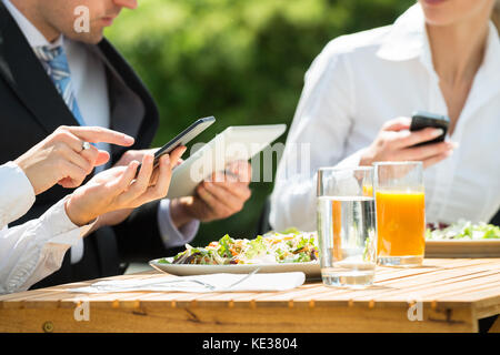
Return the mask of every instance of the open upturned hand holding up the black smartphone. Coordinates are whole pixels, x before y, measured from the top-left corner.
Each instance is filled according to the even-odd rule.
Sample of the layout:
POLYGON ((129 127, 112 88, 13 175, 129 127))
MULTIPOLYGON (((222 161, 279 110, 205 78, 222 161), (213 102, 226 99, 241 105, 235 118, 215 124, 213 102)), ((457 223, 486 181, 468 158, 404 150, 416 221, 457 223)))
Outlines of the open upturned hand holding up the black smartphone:
POLYGON ((103 171, 87 184, 77 189, 66 202, 66 211, 77 225, 84 225, 98 216, 122 210, 132 210, 150 201, 167 195, 172 168, 177 164, 184 149, 177 149, 170 155, 161 156, 158 179, 151 184, 154 174, 153 154, 142 158, 142 166, 136 178, 138 161, 126 166, 117 166, 103 171))

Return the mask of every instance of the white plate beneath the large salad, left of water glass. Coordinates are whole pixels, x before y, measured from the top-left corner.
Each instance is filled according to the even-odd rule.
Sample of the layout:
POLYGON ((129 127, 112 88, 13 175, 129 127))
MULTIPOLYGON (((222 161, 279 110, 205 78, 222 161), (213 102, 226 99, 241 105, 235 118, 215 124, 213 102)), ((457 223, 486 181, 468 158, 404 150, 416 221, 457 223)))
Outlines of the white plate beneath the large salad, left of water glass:
MULTIPOLYGON (((301 271, 309 278, 321 276, 321 270, 318 261, 308 263, 283 264, 191 265, 163 264, 159 263, 159 260, 160 258, 152 260, 149 262, 149 264, 156 270, 178 276, 206 275, 217 273, 248 274, 257 267, 260 267, 259 273, 288 273, 301 271)), ((167 257, 167 260, 172 261, 172 257, 167 257)))

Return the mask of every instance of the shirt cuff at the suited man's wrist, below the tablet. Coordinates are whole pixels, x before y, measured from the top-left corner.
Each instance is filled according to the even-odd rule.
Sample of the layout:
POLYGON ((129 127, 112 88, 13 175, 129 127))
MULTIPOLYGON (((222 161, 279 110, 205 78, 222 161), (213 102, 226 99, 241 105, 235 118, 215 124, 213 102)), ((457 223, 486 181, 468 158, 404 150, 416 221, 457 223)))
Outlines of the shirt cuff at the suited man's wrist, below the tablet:
POLYGON ((170 200, 163 199, 158 205, 158 224, 166 247, 183 246, 191 242, 200 227, 200 221, 191 221, 177 229, 170 216, 170 200))

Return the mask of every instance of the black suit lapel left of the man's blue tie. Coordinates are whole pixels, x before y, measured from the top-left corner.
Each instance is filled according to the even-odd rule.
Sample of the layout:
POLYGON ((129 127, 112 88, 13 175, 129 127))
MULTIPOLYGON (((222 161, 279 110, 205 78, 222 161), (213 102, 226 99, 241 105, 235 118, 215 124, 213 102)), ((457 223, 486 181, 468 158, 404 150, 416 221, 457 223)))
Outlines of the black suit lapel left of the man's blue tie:
POLYGON ((0 75, 48 133, 60 125, 78 125, 2 2, 0 23, 0 75))

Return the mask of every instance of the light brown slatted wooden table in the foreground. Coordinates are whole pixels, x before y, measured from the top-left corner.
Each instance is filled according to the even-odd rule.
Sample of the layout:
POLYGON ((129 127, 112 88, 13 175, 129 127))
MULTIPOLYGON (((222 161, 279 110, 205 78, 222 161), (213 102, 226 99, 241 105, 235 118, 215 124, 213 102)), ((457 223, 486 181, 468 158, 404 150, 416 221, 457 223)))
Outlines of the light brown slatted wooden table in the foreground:
MULTIPOLYGON (((91 282, 0 296, 0 332, 478 332, 478 320, 500 314, 500 258, 378 267, 366 290, 316 281, 267 293, 64 291, 91 282)), ((500 317, 490 331, 500 331, 500 317)))

